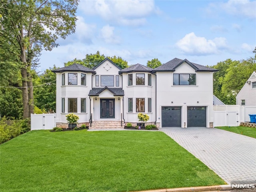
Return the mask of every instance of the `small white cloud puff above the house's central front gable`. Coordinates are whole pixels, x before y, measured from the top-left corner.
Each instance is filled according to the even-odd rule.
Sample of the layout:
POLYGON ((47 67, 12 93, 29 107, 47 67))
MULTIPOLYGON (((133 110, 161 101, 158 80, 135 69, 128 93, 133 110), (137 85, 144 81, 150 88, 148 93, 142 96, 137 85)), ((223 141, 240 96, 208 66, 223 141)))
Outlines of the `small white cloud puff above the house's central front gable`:
POLYGON ((120 43, 120 38, 114 34, 114 27, 109 25, 102 27, 102 29, 100 30, 100 37, 109 44, 120 43))

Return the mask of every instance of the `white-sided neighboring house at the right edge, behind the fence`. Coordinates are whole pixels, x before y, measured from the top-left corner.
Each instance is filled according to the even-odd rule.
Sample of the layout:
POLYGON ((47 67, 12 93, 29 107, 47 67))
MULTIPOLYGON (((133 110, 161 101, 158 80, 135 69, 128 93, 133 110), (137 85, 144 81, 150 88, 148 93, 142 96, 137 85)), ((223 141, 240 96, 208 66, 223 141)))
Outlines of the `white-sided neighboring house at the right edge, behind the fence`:
POLYGON ((256 106, 256 71, 252 73, 237 94, 236 104, 241 106, 256 106))

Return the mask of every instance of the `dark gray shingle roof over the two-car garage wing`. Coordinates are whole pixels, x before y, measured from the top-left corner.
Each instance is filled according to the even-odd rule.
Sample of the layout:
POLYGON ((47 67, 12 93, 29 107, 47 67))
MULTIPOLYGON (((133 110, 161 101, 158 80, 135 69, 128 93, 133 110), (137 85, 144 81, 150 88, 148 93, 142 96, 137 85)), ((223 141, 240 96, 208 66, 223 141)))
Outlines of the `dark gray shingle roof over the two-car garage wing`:
POLYGON ((178 58, 174 58, 168 62, 166 62, 165 64, 162 64, 161 66, 159 66, 158 68, 155 68, 153 70, 153 72, 158 72, 158 71, 175 71, 175 69, 180 66, 183 62, 186 62, 187 64, 189 64, 192 68, 194 68, 194 70, 196 72, 200 72, 200 71, 209 71, 209 72, 215 72, 218 71, 216 69, 213 68, 209 68, 203 65, 199 65, 196 63, 191 63, 188 60, 184 59, 178 59, 178 58))

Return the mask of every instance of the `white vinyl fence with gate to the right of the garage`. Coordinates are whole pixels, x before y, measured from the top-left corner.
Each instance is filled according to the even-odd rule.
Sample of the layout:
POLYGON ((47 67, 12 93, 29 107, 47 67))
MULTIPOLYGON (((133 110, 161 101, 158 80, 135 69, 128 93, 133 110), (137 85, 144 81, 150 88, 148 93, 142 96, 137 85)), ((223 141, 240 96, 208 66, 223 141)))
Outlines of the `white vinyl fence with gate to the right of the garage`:
POLYGON ((213 110, 214 127, 239 126, 241 122, 250 122, 249 114, 256 114, 256 106, 218 105, 213 110))

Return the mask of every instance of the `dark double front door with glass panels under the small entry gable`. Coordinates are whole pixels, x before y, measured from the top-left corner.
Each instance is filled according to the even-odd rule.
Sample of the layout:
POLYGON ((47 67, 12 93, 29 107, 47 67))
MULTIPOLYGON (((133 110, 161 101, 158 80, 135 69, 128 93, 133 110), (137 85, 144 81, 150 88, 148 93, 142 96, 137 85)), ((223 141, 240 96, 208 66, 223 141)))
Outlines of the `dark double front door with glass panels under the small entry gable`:
POLYGON ((115 118, 115 99, 100 99, 100 118, 115 118))

